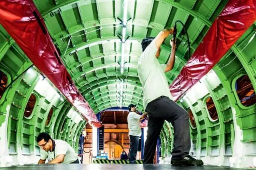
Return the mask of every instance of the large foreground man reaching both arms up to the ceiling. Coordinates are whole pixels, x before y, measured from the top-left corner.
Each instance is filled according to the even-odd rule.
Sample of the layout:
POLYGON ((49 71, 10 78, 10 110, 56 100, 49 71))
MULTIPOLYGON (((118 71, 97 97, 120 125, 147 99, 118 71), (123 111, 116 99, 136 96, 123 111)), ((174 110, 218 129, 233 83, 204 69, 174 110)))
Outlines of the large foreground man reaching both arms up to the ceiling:
POLYGON ((142 54, 138 60, 138 75, 143 87, 143 107, 148 113, 147 139, 143 164, 153 164, 157 139, 165 120, 174 128, 174 147, 171 164, 177 166, 202 166, 202 160, 189 155, 190 133, 188 113, 175 103, 169 91, 165 72, 173 69, 176 42, 172 47, 167 64, 159 64, 160 46, 174 29, 164 29, 156 37, 144 38, 142 54))

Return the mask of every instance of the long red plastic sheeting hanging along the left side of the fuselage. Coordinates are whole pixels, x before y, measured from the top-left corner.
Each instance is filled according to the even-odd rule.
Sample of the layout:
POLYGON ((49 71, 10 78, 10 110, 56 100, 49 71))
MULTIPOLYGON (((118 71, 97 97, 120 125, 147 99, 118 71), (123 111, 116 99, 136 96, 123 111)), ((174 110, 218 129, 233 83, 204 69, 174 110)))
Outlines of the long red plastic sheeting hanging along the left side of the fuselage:
POLYGON ((32 0, 1 0, 0 23, 31 62, 62 92, 92 126, 95 113, 76 89, 32 0))

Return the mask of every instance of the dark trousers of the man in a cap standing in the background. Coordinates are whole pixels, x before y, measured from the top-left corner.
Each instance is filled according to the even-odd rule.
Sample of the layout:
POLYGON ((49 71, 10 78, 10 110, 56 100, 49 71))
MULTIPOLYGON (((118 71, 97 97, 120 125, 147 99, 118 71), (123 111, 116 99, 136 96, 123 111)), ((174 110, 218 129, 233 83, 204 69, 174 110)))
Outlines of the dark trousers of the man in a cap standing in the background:
POLYGON ((136 160, 138 147, 139 147, 139 136, 129 135, 129 139, 130 139, 129 161, 130 161, 130 164, 134 164, 136 160))

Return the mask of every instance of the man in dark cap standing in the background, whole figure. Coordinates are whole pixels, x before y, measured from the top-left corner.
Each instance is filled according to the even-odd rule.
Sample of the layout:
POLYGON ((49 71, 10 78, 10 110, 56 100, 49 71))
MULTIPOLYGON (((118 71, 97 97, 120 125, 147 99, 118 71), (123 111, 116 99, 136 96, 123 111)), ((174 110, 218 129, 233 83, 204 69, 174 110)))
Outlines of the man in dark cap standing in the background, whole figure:
POLYGON ((147 113, 139 115, 136 113, 136 105, 130 104, 128 106, 129 114, 127 117, 128 129, 129 129, 129 161, 130 164, 134 164, 136 160, 136 155, 139 147, 139 137, 141 136, 140 121, 146 118, 147 113))

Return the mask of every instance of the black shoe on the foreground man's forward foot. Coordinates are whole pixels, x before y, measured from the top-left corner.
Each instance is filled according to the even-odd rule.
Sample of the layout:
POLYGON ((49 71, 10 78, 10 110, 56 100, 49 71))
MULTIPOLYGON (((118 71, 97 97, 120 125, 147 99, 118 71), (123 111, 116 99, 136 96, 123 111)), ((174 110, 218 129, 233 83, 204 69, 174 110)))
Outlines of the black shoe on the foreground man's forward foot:
POLYGON ((173 166, 202 166, 203 161, 195 159, 190 155, 185 156, 183 159, 172 159, 171 164, 173 166))

